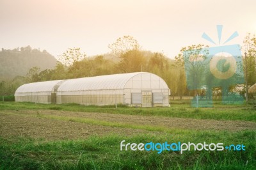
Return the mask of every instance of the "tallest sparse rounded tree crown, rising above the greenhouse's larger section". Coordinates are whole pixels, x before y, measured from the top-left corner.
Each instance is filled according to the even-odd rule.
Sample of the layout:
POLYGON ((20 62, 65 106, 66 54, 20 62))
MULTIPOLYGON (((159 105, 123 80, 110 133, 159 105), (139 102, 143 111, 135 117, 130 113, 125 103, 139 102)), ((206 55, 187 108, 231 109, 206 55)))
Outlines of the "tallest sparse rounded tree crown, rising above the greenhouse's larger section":
POLYGON ((130 35, 117 38, 116 42, 109 44, 108 47, 118 57, 123 56, 129 50, 140 49, 138 41, 130 35))

